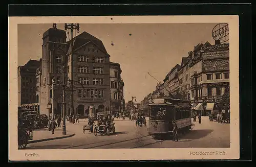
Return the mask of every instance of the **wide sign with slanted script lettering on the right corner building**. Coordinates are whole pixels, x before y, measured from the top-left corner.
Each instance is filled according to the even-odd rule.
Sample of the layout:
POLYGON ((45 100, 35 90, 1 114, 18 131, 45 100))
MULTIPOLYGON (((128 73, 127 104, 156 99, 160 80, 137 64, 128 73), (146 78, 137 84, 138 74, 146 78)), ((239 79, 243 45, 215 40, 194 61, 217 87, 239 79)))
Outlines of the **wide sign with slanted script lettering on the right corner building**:
POLYGON ((229 59, 202 60, 202 71, 228 70, 229 59))

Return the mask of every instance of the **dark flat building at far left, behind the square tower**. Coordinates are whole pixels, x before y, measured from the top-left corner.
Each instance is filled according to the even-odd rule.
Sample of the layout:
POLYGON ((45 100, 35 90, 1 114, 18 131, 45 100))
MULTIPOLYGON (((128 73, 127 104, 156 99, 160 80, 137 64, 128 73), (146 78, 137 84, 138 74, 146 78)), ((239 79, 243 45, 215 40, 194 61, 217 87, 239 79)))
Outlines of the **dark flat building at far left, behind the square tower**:
POLYGON ((18 106, 36 102, 36 69, 41 66, 41 59, 29 60, 18 66, 18 106))

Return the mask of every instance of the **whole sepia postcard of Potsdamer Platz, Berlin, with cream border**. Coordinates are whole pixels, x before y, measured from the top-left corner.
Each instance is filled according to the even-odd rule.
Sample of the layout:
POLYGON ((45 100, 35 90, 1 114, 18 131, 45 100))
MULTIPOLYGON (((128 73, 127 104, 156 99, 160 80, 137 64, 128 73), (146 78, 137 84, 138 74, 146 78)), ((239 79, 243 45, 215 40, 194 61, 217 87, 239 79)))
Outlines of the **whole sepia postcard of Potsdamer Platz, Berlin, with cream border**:
POLYGON ((239 159, 239 17, 9 17, 9 160, 239 159))

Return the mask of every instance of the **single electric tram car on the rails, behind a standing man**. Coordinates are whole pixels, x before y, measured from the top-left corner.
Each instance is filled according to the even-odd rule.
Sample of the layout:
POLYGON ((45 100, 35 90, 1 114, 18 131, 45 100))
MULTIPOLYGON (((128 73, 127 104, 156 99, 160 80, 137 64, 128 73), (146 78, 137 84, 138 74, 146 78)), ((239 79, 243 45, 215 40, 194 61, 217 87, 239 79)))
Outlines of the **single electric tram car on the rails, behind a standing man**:
POLYGON ((150 110, 149 135, 172 136, 172 121, 176 122, 179 133, 191 129, 191 109, 188 101, 159 98, 150 99, 148 102, 150 110))

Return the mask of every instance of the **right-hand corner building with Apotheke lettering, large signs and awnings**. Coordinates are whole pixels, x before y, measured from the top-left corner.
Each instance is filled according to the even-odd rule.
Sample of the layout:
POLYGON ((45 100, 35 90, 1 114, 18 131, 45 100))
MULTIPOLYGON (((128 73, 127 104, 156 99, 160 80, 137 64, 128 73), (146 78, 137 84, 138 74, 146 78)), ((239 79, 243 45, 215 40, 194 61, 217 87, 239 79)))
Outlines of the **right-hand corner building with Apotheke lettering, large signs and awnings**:
POLYGON ((229 44, 205 43, 201 60, 195 62, 191 76, 191 102, 202 115, 218 111, 225 88, 229 86, 229 44))

